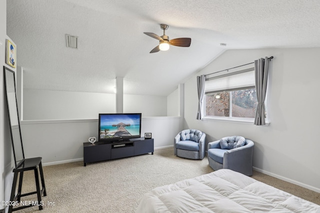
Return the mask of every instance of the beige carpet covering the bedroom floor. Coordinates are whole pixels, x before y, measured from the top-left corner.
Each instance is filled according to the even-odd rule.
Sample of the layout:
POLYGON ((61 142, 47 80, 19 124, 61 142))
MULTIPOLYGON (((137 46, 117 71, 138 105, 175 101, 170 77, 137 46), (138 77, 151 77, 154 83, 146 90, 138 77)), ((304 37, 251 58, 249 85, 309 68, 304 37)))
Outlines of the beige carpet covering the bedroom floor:
MULTIPOLYGON (((37 213, 134 213, 137 202, 149 190, 212 172, 207 158, 189 160, 174 156, 173 148, 154 155, 87 164, 74 162, 43 167, 47 196, 42 211, 31 207, 21 212, 37 213)), ((320 194, 253 172, 252 178, 320 205, 320 194)), ((35 191, 33 171, 24 175, 22 193, 35 191)), ((36 196, 24 200, 36 200, 36 196)))

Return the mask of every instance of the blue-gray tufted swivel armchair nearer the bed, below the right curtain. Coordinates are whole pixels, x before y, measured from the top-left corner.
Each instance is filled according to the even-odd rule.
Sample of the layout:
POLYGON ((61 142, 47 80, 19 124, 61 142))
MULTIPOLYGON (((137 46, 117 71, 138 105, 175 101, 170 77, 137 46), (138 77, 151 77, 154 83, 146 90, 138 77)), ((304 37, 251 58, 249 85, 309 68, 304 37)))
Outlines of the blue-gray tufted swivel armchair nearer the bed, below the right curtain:
POLYGON ((225 137, 208 143, 208 161, 213 170, 230 169, 252 175, 253 141, 241 136, 225 137))

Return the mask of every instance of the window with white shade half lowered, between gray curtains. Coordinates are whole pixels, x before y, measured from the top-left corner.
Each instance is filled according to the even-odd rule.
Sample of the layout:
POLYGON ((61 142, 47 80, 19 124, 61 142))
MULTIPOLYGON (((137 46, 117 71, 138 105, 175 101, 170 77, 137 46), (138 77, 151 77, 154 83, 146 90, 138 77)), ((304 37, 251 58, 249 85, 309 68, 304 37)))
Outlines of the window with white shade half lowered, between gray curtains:
POLYGON ((257 106, 254 68, 206 76, 204 117, 253 120, 257 106))

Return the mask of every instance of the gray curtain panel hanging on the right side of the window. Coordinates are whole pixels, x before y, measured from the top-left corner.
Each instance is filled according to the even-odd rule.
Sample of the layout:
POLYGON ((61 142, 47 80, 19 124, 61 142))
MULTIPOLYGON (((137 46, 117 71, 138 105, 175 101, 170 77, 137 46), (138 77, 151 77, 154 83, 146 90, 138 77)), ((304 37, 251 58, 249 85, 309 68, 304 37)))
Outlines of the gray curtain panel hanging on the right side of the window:
POLYGON ((268 57, 254 61, 254 78, 257 106, 255 110, 254 125, 265 125, 264 100, 268 79, 268 57))

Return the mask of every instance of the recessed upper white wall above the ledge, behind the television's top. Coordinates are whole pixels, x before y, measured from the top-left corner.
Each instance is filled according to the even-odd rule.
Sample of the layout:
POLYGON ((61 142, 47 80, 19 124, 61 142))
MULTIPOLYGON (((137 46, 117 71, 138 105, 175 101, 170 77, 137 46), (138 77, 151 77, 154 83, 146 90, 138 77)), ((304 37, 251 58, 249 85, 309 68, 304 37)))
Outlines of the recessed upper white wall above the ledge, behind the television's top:
MULTIPOLYGON (((166 116, 166 97, 124 95, 123 112, 166 116)), ((115 94, 23 90, 23 120, 92 119, 99 113, 115 113, 115 94)))

